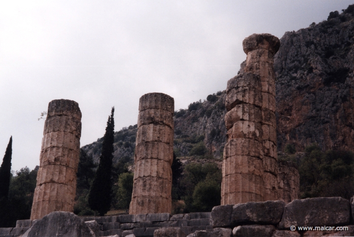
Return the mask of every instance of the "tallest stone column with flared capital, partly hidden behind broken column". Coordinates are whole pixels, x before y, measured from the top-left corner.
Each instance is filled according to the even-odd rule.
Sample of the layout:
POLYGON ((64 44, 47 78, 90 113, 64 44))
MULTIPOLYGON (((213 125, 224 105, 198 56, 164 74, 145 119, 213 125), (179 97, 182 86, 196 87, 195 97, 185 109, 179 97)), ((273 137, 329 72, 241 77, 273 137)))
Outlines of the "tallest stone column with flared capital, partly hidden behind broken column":
POLYGON ((259 75, 262 83, 264 201, 278 200, 273 56, 279 50, 280 41, 271 34, 252 34, 242 45, 247 54, 244 71, 259 75))

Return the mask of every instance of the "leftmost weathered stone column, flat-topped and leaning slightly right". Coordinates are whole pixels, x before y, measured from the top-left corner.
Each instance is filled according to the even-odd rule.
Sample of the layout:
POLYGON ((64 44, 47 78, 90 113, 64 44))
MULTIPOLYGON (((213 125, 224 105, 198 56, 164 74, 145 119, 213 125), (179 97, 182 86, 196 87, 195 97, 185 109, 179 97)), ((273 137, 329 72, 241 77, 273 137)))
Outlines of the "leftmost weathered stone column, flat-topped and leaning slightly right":
POLYGON ((49 102, 43 135, 31 220, 74 209, 81 137, 79 104, 64 99, 49 102))

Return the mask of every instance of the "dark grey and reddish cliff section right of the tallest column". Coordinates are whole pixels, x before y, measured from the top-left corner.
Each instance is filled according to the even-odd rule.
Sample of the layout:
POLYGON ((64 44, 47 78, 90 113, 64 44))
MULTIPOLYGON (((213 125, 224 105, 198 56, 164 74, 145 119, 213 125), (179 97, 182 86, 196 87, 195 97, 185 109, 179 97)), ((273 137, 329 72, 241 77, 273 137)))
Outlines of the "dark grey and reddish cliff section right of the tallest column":
POLYGON ((354 151, 354 5, 286 32, 274 58, 278 150, 354 151))

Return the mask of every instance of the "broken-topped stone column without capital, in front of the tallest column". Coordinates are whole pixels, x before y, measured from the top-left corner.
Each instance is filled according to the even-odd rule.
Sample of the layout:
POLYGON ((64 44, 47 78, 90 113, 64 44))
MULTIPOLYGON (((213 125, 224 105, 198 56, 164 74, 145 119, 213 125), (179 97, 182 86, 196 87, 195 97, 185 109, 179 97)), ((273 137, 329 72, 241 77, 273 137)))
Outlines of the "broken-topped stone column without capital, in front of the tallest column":
POLYGON ((264 201, 261 89, 253 73, 240 73, 227 83, 221 205, 264 201))

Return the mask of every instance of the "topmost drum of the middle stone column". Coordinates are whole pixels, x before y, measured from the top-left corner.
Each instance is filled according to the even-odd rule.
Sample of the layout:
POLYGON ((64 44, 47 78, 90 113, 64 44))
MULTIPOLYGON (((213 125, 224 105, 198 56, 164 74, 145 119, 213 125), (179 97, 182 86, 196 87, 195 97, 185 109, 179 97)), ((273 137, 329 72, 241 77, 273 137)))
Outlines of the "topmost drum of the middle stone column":
POLYGON ((166 110, 173 114, 175 111, 175 100, 164 93, 148 93, 140 97, 139 111, 148 109, 166 110))

